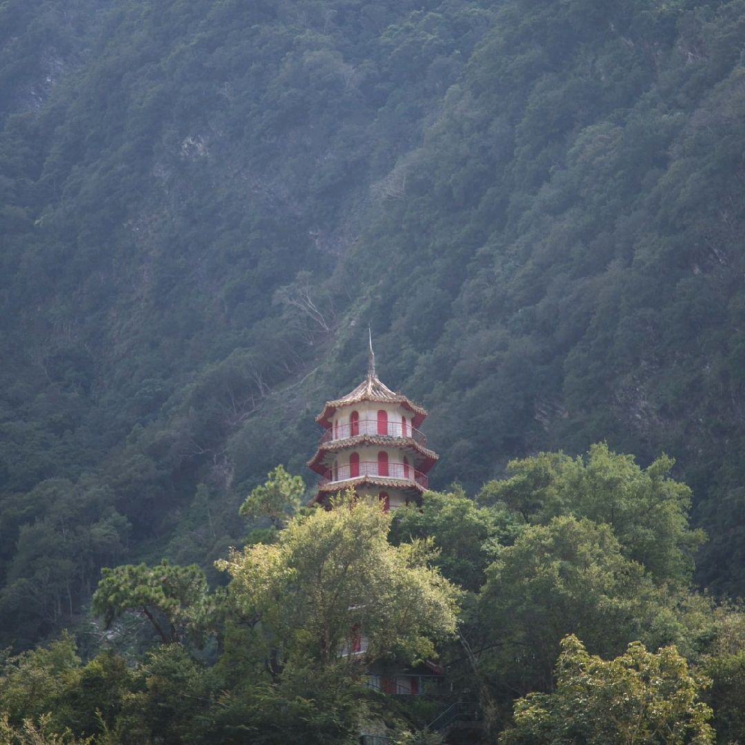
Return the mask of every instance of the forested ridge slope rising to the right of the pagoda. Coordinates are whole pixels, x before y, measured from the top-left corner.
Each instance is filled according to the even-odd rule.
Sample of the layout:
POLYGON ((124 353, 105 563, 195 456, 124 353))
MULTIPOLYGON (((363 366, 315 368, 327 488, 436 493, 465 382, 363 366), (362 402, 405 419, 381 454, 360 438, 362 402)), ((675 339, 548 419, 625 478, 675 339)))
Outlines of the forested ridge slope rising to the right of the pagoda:
POLYGON ((700 579, 737 593, 744 10, 505 3, 343 261, 431 409, 440 483, 600 439, 665 450, 712 537, 700 579))

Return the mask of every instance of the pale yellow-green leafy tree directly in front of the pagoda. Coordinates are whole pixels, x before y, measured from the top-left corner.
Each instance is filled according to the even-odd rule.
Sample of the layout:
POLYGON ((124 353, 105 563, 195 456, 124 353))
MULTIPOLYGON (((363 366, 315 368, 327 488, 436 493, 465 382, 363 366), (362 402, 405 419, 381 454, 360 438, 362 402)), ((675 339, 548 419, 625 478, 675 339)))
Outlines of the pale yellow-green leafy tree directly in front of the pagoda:
POLYGON ((277 544, 233 550, 217 565, 238 611, 260 619, 286 658, 336 666, 357 634, 369 639, 368 658, 433 656, 434 641, 454 633, 457 590, 428 567, 427 544, 388 543, 390 521, 377 501, 346 494, 293 518, 277 544))

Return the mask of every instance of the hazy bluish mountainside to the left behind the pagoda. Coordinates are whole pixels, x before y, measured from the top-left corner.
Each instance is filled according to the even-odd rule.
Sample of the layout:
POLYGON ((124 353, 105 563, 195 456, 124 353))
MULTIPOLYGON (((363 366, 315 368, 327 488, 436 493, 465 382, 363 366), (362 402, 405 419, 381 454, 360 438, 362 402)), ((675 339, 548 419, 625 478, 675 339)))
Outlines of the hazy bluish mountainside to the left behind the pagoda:
POLYGON ((229 523, 183 541, 203 560, 240 535, 236 466, 302 462, 297 411, 276 429, 302 438, 262 432, 260 462, 227 440, 335 332, 351 296, 324 280, 491 23, 478 3, 72 2, 75 37, 56 7, 3 7, 8 57, 44 22, 50 48, 80 39, 45 98, 5 71, 0 606, 31 637, 102 563, 163 553, 197 482, 229 523))

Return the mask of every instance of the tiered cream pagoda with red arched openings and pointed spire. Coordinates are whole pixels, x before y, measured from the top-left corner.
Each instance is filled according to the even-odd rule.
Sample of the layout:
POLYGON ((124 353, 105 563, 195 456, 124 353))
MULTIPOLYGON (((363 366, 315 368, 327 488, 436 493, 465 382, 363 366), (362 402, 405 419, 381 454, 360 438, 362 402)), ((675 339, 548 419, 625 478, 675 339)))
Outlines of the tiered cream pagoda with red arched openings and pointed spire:
POLYGON ((326 506, 350 486, 360 496, 377 496, 386 510, 420 503, 437 462, 418 429, 426 416, 421 406, 381 383, 370 337, 367 377, 346 396, 327 401, 316 417, 324 432, 308 461, 321 477, 311 504, 326 506))

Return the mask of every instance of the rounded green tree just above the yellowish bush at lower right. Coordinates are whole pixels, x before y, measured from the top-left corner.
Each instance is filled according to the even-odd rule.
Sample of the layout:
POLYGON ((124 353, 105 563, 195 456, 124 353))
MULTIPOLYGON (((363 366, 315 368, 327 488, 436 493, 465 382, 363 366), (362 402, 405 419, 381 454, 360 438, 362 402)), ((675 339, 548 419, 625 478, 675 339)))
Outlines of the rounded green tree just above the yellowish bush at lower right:
POLYGON ((478 612, 483 665, 501 697, 548 690, 559 641, 568 633, 609 656, 644 639, 685 638, 676 597, 627 559, 607 525, 554 518, 528 526, 486 570, 478 612))

